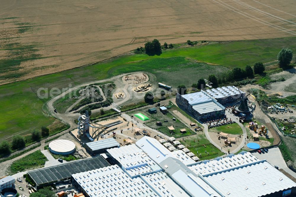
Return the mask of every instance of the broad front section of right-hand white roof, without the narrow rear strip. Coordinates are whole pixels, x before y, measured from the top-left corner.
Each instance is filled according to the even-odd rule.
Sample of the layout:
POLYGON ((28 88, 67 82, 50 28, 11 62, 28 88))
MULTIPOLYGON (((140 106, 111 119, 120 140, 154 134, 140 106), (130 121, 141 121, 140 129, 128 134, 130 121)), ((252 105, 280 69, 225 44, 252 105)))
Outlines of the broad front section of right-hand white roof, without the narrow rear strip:
POLYGON ((296 183, 266 161, 209 175, 205 179, 229 197, 264 196, 296 187, 296 183))

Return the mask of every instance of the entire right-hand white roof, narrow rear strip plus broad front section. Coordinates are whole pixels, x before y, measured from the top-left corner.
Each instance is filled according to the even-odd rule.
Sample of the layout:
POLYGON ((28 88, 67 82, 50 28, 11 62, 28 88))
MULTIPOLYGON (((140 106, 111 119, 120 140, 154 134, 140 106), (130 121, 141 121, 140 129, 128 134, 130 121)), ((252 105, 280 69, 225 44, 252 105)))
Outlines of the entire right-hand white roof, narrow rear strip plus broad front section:
POLYGON ((225 196, 263 196, 296 186, 271 164, 250 152, 202 162, 189 169, 201 174, 225 196))

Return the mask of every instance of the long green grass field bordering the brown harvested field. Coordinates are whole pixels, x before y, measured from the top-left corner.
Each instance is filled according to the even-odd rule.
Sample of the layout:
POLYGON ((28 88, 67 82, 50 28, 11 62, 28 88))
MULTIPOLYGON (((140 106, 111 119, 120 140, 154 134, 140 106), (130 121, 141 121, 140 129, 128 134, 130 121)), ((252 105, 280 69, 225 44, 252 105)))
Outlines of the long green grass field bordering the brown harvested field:
POLYGON ((45 93, 48 93, 51 88, 67 88, 69 84, 73 87, 88 81, 135 71, 152 72, 158 81, 174 87, 180 83, 191 85, 196 83, 199 77, 227 70, 226 67, 244 67, 257 61, 274 61, 282 47, 289 47, 295 51, 295 41, 296 37, 223 42, 166 50, 160 56, 127 55, 92 66, 1 85, 0 109, 1 117, 5 118, 0 120, 0 139, 5 139, 4 136, 9 138, 9 135, 17 133, 24 135, 54 122, 54 118, 46 115, 44 105, 50 98, 39 99, 36 96, 38 88, 49 88, 45 90, 45 93), (224 67, 197 63, 196 60, 224 67))

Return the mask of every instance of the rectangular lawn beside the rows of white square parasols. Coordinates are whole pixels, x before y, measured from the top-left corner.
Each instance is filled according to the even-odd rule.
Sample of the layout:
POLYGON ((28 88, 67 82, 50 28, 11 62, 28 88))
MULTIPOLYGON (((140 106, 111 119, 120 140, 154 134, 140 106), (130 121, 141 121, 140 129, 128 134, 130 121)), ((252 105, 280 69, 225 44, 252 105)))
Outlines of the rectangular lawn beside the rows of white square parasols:
POLYGON ((184 146, 189 147, 189 150, 198 158, 200 158, 200 160, 213 159, 218 156, 224 155, 224 153, 216 148, 213 144, 209 144, 210 141, 207 140, 203 132, 199 132, 197 135, 187 136, 184 138, 184 141, 180 140, 180 142, 184 146), (205 144, 206 147, 201 146, 203 144, 205 144))

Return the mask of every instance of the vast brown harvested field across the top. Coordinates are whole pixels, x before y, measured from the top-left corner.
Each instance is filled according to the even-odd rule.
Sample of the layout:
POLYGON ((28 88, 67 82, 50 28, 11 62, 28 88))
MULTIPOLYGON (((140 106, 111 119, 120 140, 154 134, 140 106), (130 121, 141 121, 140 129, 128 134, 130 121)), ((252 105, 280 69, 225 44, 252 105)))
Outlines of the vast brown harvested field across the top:
POLYGON ((127 53, 148 40, 296 35, 295 0, 1 0, 0 84, 127 53))

